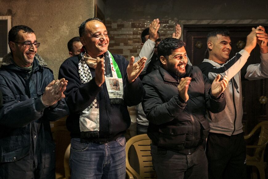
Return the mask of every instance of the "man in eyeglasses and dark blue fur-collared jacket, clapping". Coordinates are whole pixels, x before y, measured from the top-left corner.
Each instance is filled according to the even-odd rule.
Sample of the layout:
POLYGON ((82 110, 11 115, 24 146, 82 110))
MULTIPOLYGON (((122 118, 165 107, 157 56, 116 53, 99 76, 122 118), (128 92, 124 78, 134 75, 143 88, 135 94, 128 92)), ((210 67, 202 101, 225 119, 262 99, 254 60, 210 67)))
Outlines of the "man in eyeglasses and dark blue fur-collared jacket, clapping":
POLYGON ((55 143, 49 121, 69 113, 67 80, 54 80, 37 54, 40 43, 24 25, 8 33, 11 53, 2 61, 0 178, 55 178, 55 143))

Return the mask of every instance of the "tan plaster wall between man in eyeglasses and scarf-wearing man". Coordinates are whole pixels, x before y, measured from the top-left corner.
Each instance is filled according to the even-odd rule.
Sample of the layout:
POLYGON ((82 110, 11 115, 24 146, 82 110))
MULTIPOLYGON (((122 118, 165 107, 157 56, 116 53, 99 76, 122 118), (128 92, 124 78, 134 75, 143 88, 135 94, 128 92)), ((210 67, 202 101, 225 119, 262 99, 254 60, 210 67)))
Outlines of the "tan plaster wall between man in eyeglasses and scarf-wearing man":
POLYGON ((69 57, 67 42, 79 36, 80 24, 94 17, 94 0, 0 0, 0 15, 11 25, 27 25, 41 43, 38 53, 58 78, 59 66, 69 57))

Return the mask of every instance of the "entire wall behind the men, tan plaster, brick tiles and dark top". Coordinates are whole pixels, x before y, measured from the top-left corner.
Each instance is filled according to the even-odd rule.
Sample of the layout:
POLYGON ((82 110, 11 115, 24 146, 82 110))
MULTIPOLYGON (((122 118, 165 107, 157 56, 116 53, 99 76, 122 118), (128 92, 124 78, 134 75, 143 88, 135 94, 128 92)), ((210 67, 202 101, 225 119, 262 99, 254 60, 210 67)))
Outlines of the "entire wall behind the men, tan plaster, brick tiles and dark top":
POLYGON ((120 53, 122 48, 116 46, 127 45, 129 49, 120 53, 127 58, 139 53, 140 32, 154 18, 161 20, 161 37, 165 37, 165 33, 169 36, 169 32, 173 31, 173 26, 170 26, 165 32, 164 24, 173 22, 183 25, 185 20, 268 19, 268 1, 249 0, 0 0, 0 15, 11 15, 12 26, 24 24, 35 31, 37 40, 41 43, 38 53, 54 71, 57 79, 59 66, 69 57, 67 42, 72 37, 79 36, 79 26, 85 19, 94 16, 95 3, 105 15, 109 36, 112 38, 109 49, 120 53), (133 32, 126 36, 123 31, 133 32), (122 37, 128 38, 127 44, 126 39, 120 41, 122 37), (133 44, 136 46, 132 47, 133 44))

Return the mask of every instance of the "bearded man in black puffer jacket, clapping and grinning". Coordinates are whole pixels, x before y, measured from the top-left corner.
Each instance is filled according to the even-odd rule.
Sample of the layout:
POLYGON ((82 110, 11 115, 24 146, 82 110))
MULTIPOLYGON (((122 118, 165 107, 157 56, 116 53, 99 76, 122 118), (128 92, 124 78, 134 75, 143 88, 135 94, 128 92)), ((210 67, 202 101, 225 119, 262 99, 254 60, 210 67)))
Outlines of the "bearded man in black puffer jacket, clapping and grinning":
POLYGON ((144 76, 142 107, 149 120, 152 163, 159 178, 207 178, 202 147, 209 131, 206 109, 218 113, 225 107, 227 76, 214 82, 198 67, 186 65, 185 43, 166 38, 158 45, 161 66, 144 76))

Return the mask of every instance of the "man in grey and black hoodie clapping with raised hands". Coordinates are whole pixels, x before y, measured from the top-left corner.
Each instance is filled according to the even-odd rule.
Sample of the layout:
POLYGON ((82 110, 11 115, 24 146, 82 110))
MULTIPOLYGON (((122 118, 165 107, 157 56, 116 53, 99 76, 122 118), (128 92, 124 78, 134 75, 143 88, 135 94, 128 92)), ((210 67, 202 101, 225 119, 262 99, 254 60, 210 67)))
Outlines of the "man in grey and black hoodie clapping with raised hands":
POLYGON ((204 59, 198 67, 211 81, 217 74, 227 75, 230 79, 225 89, 225 109, 217 114, 209 113, 207 117, 210 124, 206 149, 209 178, 246 178, 241 79, 268 78, 267 41, 267 33, 262 26, 252 28, 245 48, 227 61, 232 49, 229 32, 215 30, 207 36, 209 59, 204 59), (244 66, 257 43, 261 50, 261 63, 244 66))

